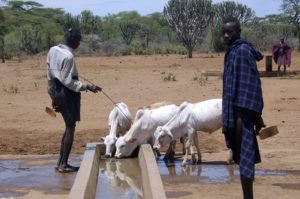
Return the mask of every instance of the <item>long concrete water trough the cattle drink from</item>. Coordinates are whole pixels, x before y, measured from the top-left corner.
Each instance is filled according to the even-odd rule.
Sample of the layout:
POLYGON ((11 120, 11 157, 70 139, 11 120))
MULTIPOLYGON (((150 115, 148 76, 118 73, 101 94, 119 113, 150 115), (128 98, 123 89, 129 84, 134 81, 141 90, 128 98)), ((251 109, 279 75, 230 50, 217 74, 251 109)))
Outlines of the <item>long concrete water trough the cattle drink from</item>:
MULTIPOLYGON (((141 187, 140 191, 137 191, 138 192, 136 194, 137 197, 131 197, 131 198, 144 198, 144 199, 166 198, 159 169, 157 167, 156 159, 154 157, 151 146, 149 144, 141 145, 138 152, 137 159, 108 160, 105 158, 104 154, 105 154, 105 145, 103 143, 89 143, 87 145, 86 151, 84 153, 80 165, 80 169, 77 173, 76 179, 71 188, 69 199, 115 198, 117 196, 116 195, 117 190, 122 190, 122 189, 118 187, 116 188, 104 187, 106 193, 105 194, 99 193, 103 190, 101 189, 101 186, 104 186, 103 183, 101 182, 101 180, 103 180, 101 174, 104 173, 103 165, 110 164, 110 162, 114 162, 116 164, 119 163, 122 164, 122 161, 124 161, 123 162, 124 165, 127 166, 129 165, 129 163, 130 165, 137 165, 137 166, 125 167, 128 168, 128 170, 129 169, 136 170, 136 172, 131 171, 131 175, 136 173, 136 176, 133 178, 137 179, 138 183, 140 182, 140 187, 141 187), (111 191, 107 191, 109 189, 111 189, 111 191), (110 193, 111 196, 108 196, 107 194, 110 193)), ((108 184, 114 184, 114 183, 108 183, 108 184)), ((121 184, 121 183, 115 183, 115 184, 121 184)), ((133 189, 136 188, 133 187, 133 189)))

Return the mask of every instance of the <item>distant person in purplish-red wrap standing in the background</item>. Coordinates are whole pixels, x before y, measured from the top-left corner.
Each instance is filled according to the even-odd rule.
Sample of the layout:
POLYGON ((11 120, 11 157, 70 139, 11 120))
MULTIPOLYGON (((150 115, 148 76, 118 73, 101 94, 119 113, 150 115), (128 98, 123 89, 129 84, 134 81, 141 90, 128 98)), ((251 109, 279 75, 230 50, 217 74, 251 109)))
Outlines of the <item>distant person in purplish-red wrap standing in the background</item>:
POLYGON ((286 72, 286 65, 291 65, 291 47, 284 41, 284 37, 281 37, 280 42, 274 45, 272 50, 272 57, 275 63, 278 65, 277 76, 280 74, 280 66, 283 65, 283 72, 286 72))

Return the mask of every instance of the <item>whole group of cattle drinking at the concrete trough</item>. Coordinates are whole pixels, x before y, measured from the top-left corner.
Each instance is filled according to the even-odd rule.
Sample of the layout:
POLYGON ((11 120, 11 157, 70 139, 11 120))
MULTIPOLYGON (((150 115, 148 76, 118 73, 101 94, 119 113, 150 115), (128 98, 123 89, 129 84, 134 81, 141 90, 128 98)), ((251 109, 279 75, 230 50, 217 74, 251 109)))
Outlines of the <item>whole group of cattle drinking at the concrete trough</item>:
MULTIPOLYGON (((193 145, 201 163, 197 131, 212 133, 222 126, 222 99, 210 99, 199 103, 183 102, 180 106, 168 102, 159 102, 137 111, 132 123, 128 106, 116 104, 108 118, 109 134, 103 137, 107 158, 124 158, 132 155, 143 143, 150 143, 155 155, 160 148, 169 145, 165 159, 174 158, 176 140, 182 143, 185 154, 182 166, 191 154, 196 162, 193 145)), ((230 152, 228 163, 232 162, 230 152)))

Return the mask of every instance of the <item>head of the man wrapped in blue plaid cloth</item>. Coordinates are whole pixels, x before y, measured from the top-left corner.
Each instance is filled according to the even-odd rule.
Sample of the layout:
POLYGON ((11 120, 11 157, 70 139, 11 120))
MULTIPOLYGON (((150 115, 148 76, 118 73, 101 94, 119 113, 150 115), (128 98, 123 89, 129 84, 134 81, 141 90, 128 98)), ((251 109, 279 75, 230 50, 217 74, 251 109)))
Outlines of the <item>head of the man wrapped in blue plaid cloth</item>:
POLYGON ((240 38, 240 35, 240 22, 234 17, 227 17, 222 25, 222 36, 225 44, 231 46, 235 40, 240 38))

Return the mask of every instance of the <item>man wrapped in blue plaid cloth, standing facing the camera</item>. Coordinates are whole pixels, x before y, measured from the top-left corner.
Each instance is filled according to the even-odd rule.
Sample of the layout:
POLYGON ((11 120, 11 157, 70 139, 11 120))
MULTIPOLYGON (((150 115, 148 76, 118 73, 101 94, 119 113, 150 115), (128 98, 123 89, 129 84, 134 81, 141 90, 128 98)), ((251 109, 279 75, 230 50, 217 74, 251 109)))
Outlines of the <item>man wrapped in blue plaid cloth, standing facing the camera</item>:
POLYGON ((263 96, 256 61, 263 58, 252 44, 240 38, 240 23, 223 21, 222 36, 229 46, 223 73, 223 133, 233 160, 240 166, 244 198, 253 198, 254 165, 261 161, 256 133, 264 127, 263 96), (255 129, 254 129, 255 127, 255 129), (256 133, 255 133, 256 132, 256 133))

